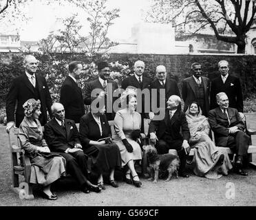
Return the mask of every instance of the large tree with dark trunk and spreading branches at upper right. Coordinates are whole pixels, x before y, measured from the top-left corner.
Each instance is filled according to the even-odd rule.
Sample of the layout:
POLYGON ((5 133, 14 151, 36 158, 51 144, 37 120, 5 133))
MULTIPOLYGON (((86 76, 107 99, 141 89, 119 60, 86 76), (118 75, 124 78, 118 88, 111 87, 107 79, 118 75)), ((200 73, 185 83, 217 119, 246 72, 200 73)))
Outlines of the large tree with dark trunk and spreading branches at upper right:
POLYGON ((255 22, 255 0, 153 0, 146 20, 182 25, 184 34, 211 30, 217 40, 235 43, 244 54, 246 33, 255 22))

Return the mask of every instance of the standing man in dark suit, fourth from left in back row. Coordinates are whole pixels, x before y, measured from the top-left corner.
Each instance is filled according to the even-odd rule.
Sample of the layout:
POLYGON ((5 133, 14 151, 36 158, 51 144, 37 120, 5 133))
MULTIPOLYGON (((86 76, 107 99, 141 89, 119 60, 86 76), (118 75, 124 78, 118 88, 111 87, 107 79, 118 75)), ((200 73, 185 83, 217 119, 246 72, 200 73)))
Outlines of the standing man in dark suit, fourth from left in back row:
MULTIPOLYGON (((134 63, 134 75, 129 76, 122 80, 122 89, 126 89, 127 87, 136 87, 141 91, 143 89, 149 89, 149 100, 145 100, 145 96, 142 95, 142 111, 140 112, 141 115, 141 132, 144 133, 144 118, 153 118, 153 113, 145 112, 145 102, 150 103, 150 83, 151 78, 143 76, 145 71, 145 63, 143 61, 136 61, 134 63)), ((150 108, 150 107, 149 107, 150 108)))

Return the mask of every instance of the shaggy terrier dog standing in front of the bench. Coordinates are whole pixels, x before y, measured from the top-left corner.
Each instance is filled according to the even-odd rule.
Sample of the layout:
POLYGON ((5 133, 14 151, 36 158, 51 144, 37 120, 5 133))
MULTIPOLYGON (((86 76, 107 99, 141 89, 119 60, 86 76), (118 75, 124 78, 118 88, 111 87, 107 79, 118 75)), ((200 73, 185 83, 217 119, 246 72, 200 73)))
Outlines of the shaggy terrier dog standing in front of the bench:
POLYGON ((153 183, 158 181, 158 175, 164 177, 167 173, 168 177, 165 181, 170 181, 173 173, 175 173, 176 178, 178 178, 180 159, 177 155, 172 155, 170 153, 158 155, 156 148, 151 145, 144 145, 142 148, 145 150, 149 161, 149 168, 151 168, 151 178, 149 179, 153 180, 153 183))

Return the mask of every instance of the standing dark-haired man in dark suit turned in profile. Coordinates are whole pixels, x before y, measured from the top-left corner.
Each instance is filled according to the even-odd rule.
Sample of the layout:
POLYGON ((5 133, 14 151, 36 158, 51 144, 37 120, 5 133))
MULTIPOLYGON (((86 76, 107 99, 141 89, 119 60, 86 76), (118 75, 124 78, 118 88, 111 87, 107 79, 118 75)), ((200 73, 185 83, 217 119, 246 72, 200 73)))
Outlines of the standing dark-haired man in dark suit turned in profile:
POLYGON ((65 109, 65 117, 79 123, 81 117, 85 114, 85 105, 83 104, 83 94, 78 87, 76 80, 80 78, 83 72, 83 65, 79 61, 72 61, 68 66, 70 74, 65 78, 61 86, 61 100, 65 109))

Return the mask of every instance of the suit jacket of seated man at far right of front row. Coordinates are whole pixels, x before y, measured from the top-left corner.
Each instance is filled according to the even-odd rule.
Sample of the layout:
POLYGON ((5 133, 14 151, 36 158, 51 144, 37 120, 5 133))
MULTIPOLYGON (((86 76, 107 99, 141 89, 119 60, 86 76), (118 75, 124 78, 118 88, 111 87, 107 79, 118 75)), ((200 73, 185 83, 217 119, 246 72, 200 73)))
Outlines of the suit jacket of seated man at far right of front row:
POLYGON ((226 113, 223 113, 220 107, 212 109, 209 111, 209 123, 211 129, 215 134, 215 144, 216 146, 226 146, 228 142, 228 128, 232 126, 237 126, 239 130, 244 130, 245 125, 239 116, 237 109, 228 108, 228 118, 231 124, 228 124, 228 118, 226 113))

